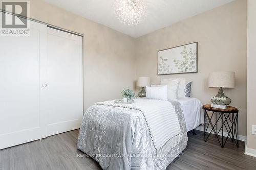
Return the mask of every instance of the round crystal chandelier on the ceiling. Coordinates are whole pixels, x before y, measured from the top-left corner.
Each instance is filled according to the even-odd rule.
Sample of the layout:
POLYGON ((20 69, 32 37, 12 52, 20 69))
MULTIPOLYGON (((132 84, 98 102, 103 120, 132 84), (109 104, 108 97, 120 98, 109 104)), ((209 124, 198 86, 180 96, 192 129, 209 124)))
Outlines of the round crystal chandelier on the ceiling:
POLYGON ((138 25, 146 16, 144 0, 114 0, 114 13, 125 25, 138 25))

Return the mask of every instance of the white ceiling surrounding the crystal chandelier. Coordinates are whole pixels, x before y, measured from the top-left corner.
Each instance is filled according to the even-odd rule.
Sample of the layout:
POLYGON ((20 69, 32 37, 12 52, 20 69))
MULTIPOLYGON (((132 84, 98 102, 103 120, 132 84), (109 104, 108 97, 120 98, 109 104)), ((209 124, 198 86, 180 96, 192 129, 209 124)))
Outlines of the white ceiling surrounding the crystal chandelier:
POLYGON ((137 26, 123 25, 113 13, 113 0, 45 0, 104 26, 139 37, 233 0, 145 0, 147 16, 137 26))

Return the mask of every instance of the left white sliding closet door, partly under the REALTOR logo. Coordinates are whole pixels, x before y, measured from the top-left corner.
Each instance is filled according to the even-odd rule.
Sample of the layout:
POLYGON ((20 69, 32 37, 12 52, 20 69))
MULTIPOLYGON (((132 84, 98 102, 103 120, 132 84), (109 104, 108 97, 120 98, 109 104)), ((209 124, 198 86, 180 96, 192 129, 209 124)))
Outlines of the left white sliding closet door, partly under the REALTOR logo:
POLYGON ((0 36, 0 149, 47 137, 40 111, 46 47, 47 26, 33 21, 30 36, 0 36))

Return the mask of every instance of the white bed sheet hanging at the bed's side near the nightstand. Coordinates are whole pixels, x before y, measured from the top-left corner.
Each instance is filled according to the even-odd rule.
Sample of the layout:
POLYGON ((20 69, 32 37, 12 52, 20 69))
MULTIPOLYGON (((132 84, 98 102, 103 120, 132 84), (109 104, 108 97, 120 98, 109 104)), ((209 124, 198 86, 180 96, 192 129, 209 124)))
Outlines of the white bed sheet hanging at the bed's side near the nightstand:
POLYGON ((181 104, 186 121, 187 132, 203 124, 202 103, 196 98, 176 99, 181 104))

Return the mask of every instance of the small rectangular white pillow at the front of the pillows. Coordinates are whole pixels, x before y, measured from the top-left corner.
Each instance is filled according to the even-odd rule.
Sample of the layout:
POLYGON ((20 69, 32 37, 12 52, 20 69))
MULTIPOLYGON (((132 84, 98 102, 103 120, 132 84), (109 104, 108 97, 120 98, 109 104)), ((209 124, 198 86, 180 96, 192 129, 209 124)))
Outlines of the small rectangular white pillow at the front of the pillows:
POLYGON ((146 86, 146 98, 167 101, 167 86, 146 86))

